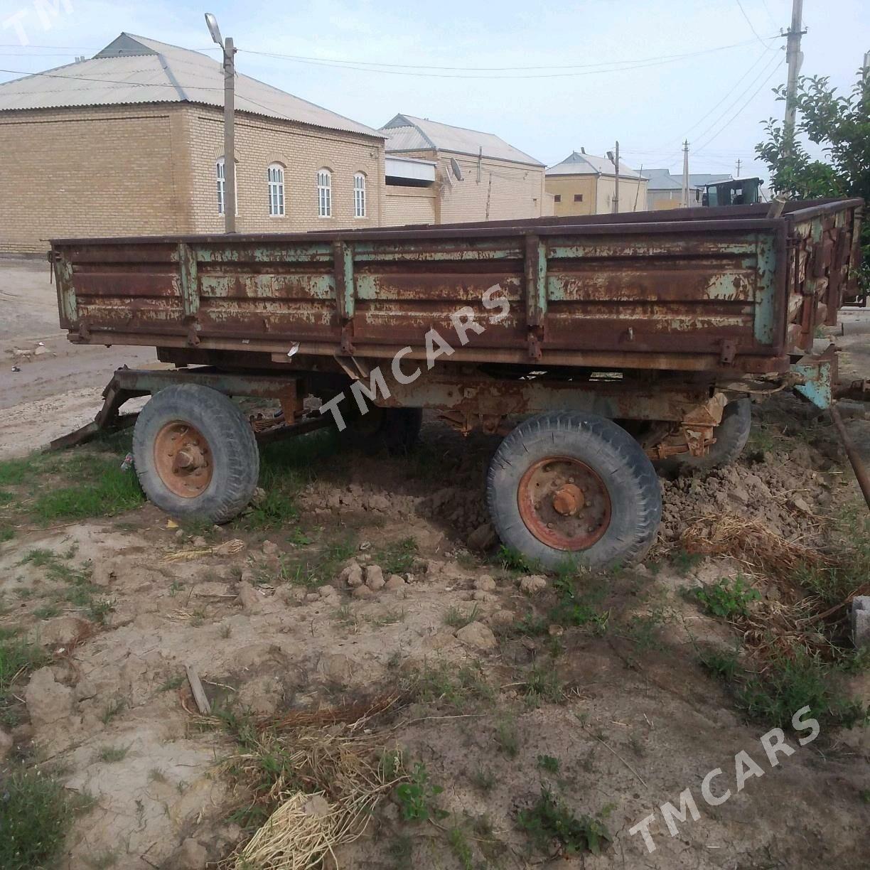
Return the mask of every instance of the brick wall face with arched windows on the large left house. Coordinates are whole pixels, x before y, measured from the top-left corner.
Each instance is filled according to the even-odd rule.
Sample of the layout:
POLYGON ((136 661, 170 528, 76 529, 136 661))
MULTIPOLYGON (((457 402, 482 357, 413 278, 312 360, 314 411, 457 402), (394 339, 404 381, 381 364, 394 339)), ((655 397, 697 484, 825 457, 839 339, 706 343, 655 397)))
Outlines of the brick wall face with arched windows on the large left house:
MULTIPOLYGON (((224 153, 220 110, 191 106, 193 224, 196 232, 220 232, 215 165, 224 153)), ((383 215, 384 148, 381 140, 271 121, 251 115, 236 119, 236 186, 239 232, 293 232, 379 226, 383 215), (284 166, 284 216, 271 217, 267 169, 284 166), (332 173, 332 217, 318 217, 318 170, 332 173), (353 176, 365 173, 366 217, 355 218, 353 176)))

